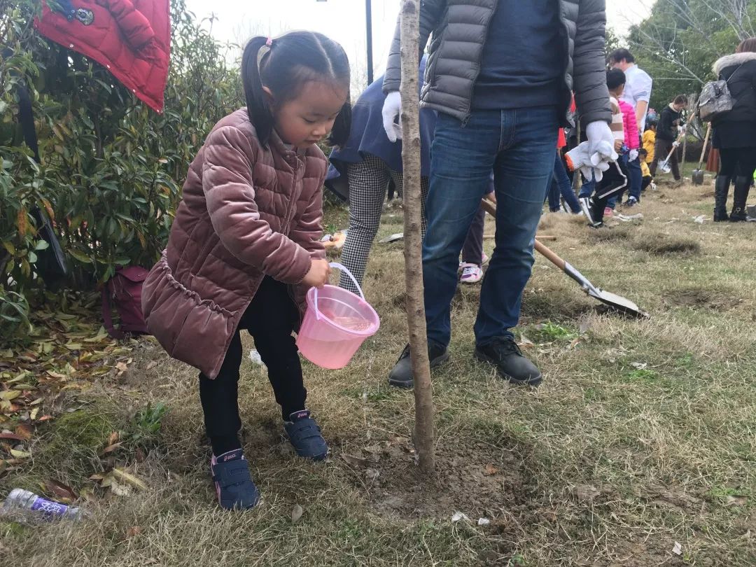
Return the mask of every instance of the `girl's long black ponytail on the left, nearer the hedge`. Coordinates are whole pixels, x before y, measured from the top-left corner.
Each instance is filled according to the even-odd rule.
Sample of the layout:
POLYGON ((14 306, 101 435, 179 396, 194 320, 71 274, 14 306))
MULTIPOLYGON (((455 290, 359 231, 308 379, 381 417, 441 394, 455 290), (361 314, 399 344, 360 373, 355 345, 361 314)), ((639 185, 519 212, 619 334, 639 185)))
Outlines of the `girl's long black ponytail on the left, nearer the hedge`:
MULTIPOLYGON (((246 98, 246 113, 249 116, 249 122, 255 126, 257 139, 263 146, 268 144, 268 138, 273 132, 273 113, 271 113, 265 91, 262 90, 260 72, 263 60, 268 55, 268 52, 260 50, 266 45, 268 45, 268 38, 258 36, 250 39, 244 47, 241 58, 241 81, 246 98)), ((268 46, 268 49, 271 48, 272 45, 268 46)))

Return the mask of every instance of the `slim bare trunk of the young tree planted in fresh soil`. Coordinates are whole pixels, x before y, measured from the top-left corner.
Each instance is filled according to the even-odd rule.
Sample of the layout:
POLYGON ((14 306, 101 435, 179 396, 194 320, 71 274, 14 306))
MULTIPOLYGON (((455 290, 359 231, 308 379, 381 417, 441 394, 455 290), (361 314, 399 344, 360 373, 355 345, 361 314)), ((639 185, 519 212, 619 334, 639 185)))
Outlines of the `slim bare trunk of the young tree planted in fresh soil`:
POLYGON ((401 4, 401 161, 404 169, 404 280, 407 287, 407 327, 412 351, 415 395, 414 445, 420 470, 435 469, 433 398, 428 360, 423 258, 420 237, 420 107, 418 93, 418 39, 420 0, 401 4))

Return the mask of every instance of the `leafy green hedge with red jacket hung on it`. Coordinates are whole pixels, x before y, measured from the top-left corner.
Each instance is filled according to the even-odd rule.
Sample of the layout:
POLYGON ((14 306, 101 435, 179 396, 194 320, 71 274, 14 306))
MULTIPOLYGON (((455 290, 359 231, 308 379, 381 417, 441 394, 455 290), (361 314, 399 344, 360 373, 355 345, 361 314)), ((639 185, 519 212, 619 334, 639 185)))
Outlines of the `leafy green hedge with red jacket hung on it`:
POLYGON ((150 267, 204 136, 243 105, 230 46, 212 39, 184 0, 172 2, 172 61, 160 114, 95 61, 39 36, 32 23, 41 1, 0 0, 4 297, 43 283, 34 274, 45 246, 32 214, 37 207, 53 219, 79 285, 101 283, 122 265, 150 267), (33 101, 41 163, 17 125, 22 85, 33 101))

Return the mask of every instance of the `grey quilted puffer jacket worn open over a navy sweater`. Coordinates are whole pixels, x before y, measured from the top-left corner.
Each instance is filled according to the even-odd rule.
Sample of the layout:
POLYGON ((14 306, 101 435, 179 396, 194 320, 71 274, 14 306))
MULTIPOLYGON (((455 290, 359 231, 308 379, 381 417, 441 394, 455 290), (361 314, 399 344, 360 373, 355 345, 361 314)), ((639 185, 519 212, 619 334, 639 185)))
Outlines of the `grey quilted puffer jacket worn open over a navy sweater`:
MULTIPOLYGON (((451 114, 463 122, 472 106, 488 24, 498 0, 421 0, 420 48, 430 34, 430 57, 420 105, 451 114)), ((559 36, 565 53, 562 125, 568 123, 571 92, 584 124, 612 121, 606 88, 605 0, 559 0, 559 36)), ((398 91, 401 82, 399 25, 389 52, 383 91, 398 91)), ((527 54, 523 54, 526 56, 527 54)))

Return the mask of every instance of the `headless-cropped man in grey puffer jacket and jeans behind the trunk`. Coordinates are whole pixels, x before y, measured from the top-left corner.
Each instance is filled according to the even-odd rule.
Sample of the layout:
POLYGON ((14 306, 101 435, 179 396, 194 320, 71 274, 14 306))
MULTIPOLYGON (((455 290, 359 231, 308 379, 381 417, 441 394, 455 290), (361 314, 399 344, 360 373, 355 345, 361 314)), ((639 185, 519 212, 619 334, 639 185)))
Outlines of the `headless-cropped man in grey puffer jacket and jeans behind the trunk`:
MULTIPOLYGON (((605 81, 604 9, 604 0, 421 2, 421 48, 433 33, 421 104, 438 111, 423 240, 432 367, 448 358, 457 259, 493 169, 496 248, 481 291, 475 355, 512 383, 541 383, 541 372, 522 356, 510 328, 519 320, 556 131, 567 124, 572 90, 593 163, 606 169, 608 160, 616 159, 605 81)), ((401 108, 399 48, 397 26, 383 82, 389 138, 396 136, 401 108)), ((413 386, 408 346, 389 383, 413 386)))

